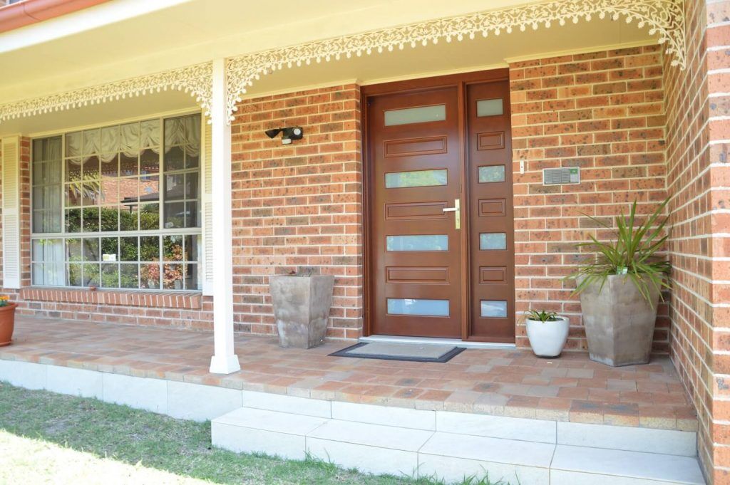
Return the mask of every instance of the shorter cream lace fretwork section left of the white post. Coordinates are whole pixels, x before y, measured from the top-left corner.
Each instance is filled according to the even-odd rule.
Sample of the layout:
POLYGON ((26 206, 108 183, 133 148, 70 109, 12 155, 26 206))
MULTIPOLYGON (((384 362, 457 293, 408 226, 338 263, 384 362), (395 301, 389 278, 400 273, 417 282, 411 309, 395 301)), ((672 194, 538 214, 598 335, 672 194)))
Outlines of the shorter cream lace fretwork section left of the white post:
POLYGON ((208 111, 212 102, 212 71, 212 63, 203 63, 66 93, 14 101, 0 105, 0 122, 115 99, 131 98, 147 93, 159 93, 170 88, 184 90, 185 93, 195 96, 201 108, 208 111))

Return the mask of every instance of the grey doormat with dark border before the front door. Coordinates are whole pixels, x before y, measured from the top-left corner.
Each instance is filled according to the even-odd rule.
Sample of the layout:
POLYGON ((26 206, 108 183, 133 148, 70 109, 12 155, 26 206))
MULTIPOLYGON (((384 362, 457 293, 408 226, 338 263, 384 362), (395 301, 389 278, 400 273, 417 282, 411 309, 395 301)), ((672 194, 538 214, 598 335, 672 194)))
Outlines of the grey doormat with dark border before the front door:
POLYGON ((448 362, 464 352, 463 347, 437 344, 398 344, 395 342, 361 342, 330 354, 332 357, 358 359, 405 360, 407 362, 448 362))

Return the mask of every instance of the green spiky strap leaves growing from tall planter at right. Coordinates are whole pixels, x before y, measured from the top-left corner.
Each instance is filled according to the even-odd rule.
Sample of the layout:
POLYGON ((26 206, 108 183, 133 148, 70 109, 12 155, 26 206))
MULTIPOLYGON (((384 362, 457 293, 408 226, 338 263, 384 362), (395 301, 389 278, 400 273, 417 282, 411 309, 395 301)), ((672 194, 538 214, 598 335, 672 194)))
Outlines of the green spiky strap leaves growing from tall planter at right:
MULTIPOLYGON (((669 288, 666 276, 672 265, 659 253, 669 237, 664 234, 664 227, 669 217, 661 217, 668 202, 669 199, 666 199, 659 204, 643 224, 638 224, 636 220, 637 201, 634 201, 631 204, 629 217, 624 217, 623 211, 615 217, 616 239, 614 241, 602 242, 594 236, 589 236, 590 242, 578 244, 578 247, 585 247, 598 254, 592 263, 580 266, 578 271, 568 276, 572 279, 584 276, 583 279, 578 280, 577 287, 572 294, 580 294, 595 282, 601 283, 600 292, 603 290, 608 276, 623 274, 636 285, 639 293, 652 306, 649 285, 660 290, 660 298, 664 300, 661 296, 661 288, 669 288)), ((588 214, 584 215, 590 217, 602 228, 612 229, 605 222, 588 214)))

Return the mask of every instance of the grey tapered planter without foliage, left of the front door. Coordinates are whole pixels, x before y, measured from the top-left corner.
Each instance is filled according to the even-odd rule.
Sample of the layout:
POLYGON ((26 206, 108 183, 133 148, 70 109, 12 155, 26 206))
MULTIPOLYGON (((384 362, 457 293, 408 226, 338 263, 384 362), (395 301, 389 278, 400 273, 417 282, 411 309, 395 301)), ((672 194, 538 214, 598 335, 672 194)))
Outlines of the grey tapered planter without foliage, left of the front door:
POLYGON ((269 290, 283 347, 311 349, 324 342, 334 276, 271 276, 269 290))

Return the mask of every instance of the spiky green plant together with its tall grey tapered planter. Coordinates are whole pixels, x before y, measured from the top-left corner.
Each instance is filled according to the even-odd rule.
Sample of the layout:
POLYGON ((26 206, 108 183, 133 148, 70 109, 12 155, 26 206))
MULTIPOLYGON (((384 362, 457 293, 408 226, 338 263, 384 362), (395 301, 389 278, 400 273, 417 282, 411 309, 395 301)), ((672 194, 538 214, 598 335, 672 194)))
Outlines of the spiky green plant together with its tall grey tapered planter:
POLYGON ((613 366, 649 362, 661 289, 669 288, 671 265, 661 256, 668 237, 664 233, 668 218, 661 216, 667 202, 639 224, 634 201, 628 217, 623 212, 615 217, 615 240, 603 242, 590 236, 590 242, 578 245, 597 253, 592 262, 569 276, 577 282, 573 294, 580 295, 592 360, 613 366))

